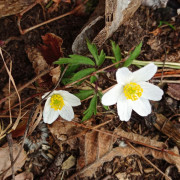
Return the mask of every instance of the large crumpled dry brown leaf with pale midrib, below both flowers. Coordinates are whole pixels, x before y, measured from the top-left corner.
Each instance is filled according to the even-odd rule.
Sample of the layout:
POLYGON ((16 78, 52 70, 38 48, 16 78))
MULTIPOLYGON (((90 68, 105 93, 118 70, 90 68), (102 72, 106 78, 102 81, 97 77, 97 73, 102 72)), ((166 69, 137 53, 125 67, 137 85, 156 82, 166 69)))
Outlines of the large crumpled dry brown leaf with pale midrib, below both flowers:
MULTIPOLYGON (((63 143, 68 143, 71 148, 79 148, 79 158, 77 159, 77 173, 75 176, 80 177, 92 177, 97 168, 104 162, 111 161, 116 156, 127 157, 129 155, 139 155, 139 151, 142 155, 152 155, 156 159, 164 159, 167 162, 177 166, 180 170, 180 158, 168 154, 167 152, 157 151, 148 147, 136 148, 137 151, 131 147, 117 147, 113 148, 113 143, 117 138, 101 131, 88 131, 88 129, 77 127, 75 124, 67 121, 59 120, 55 121, 52 125, 49 125, 49 129, 53 134, 57 144, 62 146, 63 143)), ((132 132, 125 132, 121 128, 117 128, 114 131, 115 135, 130 139, 133 142, 141 142, 147 146, 157 147, 163 149, 164 143, 156 140, 152 140, 149 137, 144 137, 132 132)), ((179 155, 178 149, 175 147, 171 150, 179 155)))

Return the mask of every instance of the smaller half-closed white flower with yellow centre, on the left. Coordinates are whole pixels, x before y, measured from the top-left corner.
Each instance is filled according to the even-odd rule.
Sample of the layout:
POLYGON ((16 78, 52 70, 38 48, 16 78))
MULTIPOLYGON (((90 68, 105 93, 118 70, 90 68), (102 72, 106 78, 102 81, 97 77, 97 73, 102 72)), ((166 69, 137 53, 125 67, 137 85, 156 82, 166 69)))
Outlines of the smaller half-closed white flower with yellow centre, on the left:
MULTIPOLYGON (((48 93, 45 93, 42 98, 48 93)), ((61 116, 63 119, 71 121, 74 118, 72 106, 79 106, 80 104, 80 99, 67 91, 53 91, 46 100, 43 120, 45 123, 51 124, 58 116, 61 116)))

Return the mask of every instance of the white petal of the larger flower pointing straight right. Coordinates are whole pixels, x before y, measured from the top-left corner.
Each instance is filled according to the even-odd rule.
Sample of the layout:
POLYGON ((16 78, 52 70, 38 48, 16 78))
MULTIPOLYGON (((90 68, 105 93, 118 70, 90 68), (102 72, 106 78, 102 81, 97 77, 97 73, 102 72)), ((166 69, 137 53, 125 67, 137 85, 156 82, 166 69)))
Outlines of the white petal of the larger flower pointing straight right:
POLYGON ((161 100, 164 92, 158 86, 155 86, 148 82, 139 82, 138 84, 141 86, 141 88, 143 88, 143 98, 153 101, 161 100))

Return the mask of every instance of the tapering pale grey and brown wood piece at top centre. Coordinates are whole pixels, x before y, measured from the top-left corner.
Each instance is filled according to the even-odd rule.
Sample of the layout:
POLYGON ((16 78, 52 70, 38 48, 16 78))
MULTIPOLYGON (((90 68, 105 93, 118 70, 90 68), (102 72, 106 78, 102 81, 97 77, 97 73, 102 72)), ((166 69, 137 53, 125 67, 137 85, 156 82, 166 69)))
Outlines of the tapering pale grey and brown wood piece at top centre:
POLYGON ((139 8, 142 0, 106 0, 105 27, 93 40, 98 47, 112 36, 139 8))

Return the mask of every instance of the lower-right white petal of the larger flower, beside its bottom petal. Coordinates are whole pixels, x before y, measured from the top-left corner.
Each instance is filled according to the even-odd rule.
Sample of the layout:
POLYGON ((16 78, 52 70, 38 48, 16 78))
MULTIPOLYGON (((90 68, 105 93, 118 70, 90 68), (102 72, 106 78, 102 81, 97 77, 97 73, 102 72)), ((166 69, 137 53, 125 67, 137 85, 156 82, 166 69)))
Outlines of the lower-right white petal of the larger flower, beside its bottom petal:
POLYGON ((151 113, 151 105, 149 101, 143 97, 140 97, 136 101, 132 101, 131 105, 132 109, 140 116, 147 116, 151 113))

